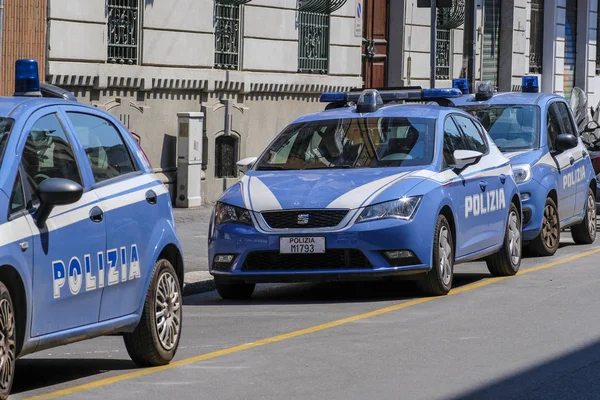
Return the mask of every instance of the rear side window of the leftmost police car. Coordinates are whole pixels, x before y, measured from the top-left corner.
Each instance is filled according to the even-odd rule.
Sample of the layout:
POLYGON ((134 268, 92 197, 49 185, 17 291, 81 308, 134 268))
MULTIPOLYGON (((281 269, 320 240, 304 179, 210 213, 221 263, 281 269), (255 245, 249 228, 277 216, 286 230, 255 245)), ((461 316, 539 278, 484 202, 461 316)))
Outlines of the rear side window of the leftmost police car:
POLYGON ((96 182, 136 170, 121 134, 112 123, 91 114, 67 112, 67 115, 85 148, 96 182))

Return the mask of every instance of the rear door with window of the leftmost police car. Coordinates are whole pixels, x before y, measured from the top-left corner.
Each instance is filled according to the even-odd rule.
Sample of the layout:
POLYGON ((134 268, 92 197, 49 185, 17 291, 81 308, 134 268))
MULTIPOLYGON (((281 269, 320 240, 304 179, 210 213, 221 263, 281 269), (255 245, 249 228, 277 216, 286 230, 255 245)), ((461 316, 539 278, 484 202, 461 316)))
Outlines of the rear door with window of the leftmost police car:
POLYGON ((104 209, 108 272, 100 321, 129 315, 139 308, 152 273, 145 256, 152 253, 152 235, 159 234, 156 221, 164 217, 166 203, 157 199, 162 183, 142 172, 124 139, 127 133, 105 115, 78 107, 65 109, 65 115, 85 148, 104 209))

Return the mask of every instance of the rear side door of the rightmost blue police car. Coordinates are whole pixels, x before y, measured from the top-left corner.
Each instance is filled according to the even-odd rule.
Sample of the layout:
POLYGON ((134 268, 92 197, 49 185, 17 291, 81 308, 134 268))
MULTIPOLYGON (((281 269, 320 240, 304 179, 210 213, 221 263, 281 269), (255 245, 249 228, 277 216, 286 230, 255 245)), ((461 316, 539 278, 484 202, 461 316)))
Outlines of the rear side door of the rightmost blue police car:
POLYGON ((587 188, 589 182, 586 179, 586 163, 588 158, 588 152, 583 142, 579 139, 579 132, 577 132, 575 121, 573 120, 572 114, 569 111, 567 103, 559 101, 555 104, 562 123, 561 132, 570 133, 577 137, 577 146, 571 151, 571 156, 573 157, 574 161, 572 164, 572 172, 567 178, 567 185, 572 186, 572 189, 574 190, 573 215, 578 215, 581 214, 585 209, 585 203, 587 200, 587 188))

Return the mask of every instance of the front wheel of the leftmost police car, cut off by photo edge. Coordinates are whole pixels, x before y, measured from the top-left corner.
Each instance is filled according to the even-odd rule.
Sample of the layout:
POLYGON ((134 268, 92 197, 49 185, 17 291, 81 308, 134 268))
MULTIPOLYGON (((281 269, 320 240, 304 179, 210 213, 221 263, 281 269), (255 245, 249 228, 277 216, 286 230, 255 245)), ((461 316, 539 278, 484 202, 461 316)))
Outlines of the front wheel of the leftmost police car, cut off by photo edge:
POLYGON ((10 292, 0 282, 0 399, 8 399, 15 378, 17 350, 15 309, 10 292))

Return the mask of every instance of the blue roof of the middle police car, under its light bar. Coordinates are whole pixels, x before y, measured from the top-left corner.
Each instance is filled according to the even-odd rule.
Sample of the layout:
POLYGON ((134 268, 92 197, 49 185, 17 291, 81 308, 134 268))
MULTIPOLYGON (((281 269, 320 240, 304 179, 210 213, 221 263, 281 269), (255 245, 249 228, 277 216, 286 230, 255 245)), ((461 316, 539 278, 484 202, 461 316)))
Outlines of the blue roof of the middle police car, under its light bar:
MULTIPOLYGON (((463 111, 430 104, 388 104, 371 113, 357 113, 355 107, 340 107, 331 110, 306 114, 292 121, 295 123, 313 122, 321 120, 342 118, 380 118, 380 117, 416 117, 437 119, 449 113, 463 113, 463 111)), ((464 113, 465 116, 469 114, 464 113)))

